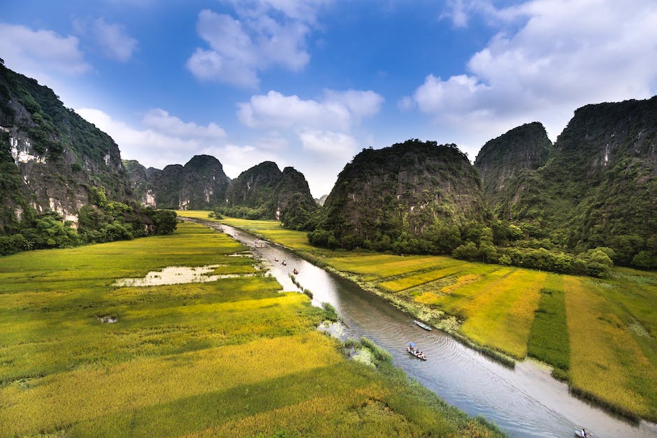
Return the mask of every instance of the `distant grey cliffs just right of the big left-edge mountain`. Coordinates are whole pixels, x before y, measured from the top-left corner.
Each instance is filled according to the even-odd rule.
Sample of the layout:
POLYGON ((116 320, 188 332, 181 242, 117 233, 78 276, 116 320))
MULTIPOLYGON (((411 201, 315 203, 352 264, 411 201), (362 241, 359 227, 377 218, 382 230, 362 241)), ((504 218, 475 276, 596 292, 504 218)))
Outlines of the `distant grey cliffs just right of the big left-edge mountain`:
POLYGON ((137 161, 126 161, 131 187, 147 207, 180 210, 208 210, 223 203, 229 177, 214 156, 196 155, 181 166, 171 164, 163 170, 146 169, 137 161))

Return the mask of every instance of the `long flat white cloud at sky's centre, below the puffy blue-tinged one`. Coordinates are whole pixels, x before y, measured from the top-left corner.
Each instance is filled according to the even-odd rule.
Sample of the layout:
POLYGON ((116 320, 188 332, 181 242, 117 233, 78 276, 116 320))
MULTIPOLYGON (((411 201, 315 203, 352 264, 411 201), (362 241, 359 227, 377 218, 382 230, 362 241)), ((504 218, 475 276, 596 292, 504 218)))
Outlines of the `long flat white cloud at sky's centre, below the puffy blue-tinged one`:
POLYGON ((302 127, 348 131, 362 117, 375 115, 383 101, 382 96, 371 91, 326 90, 322 101, 304 101, 296 95, 284 96, 270 91, 266 95, 252 96, 249 102, 239 103, 238 118, 250 128, 302 127))

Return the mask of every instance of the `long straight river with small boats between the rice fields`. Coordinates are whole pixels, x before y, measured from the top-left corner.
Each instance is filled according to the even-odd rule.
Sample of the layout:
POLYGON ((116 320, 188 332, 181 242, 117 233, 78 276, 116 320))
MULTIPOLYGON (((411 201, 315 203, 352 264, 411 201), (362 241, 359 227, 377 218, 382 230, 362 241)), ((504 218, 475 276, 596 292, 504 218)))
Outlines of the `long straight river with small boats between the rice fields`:
MULTIPOLYGON (((211 226, 221 227, 236 240, 254 247, 254 236, 244 231, 211 226)), ((289 278, 296 268, 296 280, 312 291, 313 304, 330 302, 344 319, 340 337, 368 337, 391 353, 394 365, 446 402, 470 416, 484 416, 511 436, 572 437, 576 428, 584 426, 595 437, 657 437, 657 424, 630 423, 573 397, 568 386, 553 379, 549 368, 540 363, 526 360, 511 370, 440 330, 428 332, 414 326, 409 315, 383 298, 278 245, 263 242, 252 251, 270 265, 270 272, 286 291, 298 290, 289 278), (417 344, 428 360, 422 362, 410 356, 405 350, 408 342, 417 344)))

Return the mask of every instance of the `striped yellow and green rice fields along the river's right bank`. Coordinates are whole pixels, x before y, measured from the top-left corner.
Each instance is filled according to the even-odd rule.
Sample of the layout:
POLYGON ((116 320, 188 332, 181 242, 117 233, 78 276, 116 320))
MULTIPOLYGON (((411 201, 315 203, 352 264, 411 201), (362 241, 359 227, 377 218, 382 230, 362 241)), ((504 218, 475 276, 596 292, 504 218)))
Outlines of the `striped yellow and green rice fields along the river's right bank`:
POLYGON ((573 392, 612 411, 657 421, 655 272, 614 268, 609 279, 593 279, 440 256, 330 251, 277 221, 222 221, 333 268, 484 351, 543 360, 573 392))

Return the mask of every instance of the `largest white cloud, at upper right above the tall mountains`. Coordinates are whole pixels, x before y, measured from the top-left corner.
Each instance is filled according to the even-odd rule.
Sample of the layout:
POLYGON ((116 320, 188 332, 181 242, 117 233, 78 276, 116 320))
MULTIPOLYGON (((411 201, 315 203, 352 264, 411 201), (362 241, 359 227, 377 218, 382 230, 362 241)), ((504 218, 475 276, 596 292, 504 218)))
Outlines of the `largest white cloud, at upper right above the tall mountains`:
MULTIPOLYGON (((439 124, 481 123, 496 127, 497 136, 514 124, 539 120, 554 138, 581 105, 655 92, 654 1, 532 0, 499 9, 482 0, 451 5, 455 25, 485 13, 500 31, 470 58, 465 72, 446 79, 429 74, 415 90, 412 101, 439 124)), ((483 130, 484 135, 491 132, 483 130)), ((478 146, 489 138, 481 137, 478 146)))

